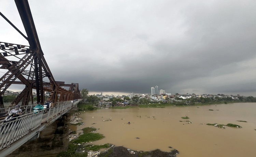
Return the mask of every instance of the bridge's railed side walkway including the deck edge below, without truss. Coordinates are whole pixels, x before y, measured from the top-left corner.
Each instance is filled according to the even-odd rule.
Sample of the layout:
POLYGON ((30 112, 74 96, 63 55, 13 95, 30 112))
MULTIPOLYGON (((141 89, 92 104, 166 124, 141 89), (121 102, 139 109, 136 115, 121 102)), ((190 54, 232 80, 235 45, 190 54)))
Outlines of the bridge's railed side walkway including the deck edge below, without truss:
MULTIPOLYGON (((63 114, 67 113, 73 107, 76 107, 80 100, 77 101, 62 101, 52 104, 53 107, 48 109, 48 112, 34 113, 32 108, 35 105, 22 106, 23 114, 19 119, 3 123, 0 121, 0 154, 4 157, 18 147, 29 141, 35 136, 39 136, 47 126, 59 119, 63 114)), ((10 108, 4 108, 10 111, 10 108)), ((36 137, 36 138, 37 138, 36 137)))

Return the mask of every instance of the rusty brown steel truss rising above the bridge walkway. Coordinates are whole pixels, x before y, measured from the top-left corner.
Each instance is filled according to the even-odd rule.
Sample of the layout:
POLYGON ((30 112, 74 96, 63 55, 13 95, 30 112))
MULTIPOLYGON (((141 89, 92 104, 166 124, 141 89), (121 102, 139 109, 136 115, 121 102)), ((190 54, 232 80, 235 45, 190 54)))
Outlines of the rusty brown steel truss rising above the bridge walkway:
POLYGON ((33 89, 37 93, 37 102, 42 104, 45 92, 51 93, 47 100, 53 103, 81 98, 78 83, 55 81, 44 58, 28 1, 15 0, 15 3, 27 36, 1 12, 0 15, 28 41, 29 46, 0 42, 0 69, 5 71, 0 78, 0 108, 4 108, 3 95, 12 84, 23 84, 25 88, 9 107, 20 102, 23 106, 29 105, 29 101, 33 104, 33 89), (62 87, 69 87, 69 90, 62 87))

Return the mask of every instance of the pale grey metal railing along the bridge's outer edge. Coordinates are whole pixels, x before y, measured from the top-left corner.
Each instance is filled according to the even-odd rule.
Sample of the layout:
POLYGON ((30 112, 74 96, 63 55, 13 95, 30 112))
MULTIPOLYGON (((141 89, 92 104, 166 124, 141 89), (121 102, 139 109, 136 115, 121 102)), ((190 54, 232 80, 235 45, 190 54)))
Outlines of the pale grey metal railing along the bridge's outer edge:
MULTIPOLYGON (((48 109, 47 113, 43 112, 44 110, 33 113, 32 108, 35 105, 22 106, 23 114, 19 118, 7 123, 4 122, 5 120, 0 121, 0 151, 3 148, 8 148, 12 143, 26 136, 31 131, 39 127, 41 127, 40 130, 44 129, 68 112, 78 102, 62 101, 55 103, 53 107, 48 109)), ((5 108, 4 110, 10 111, 11 109, 5 108)))

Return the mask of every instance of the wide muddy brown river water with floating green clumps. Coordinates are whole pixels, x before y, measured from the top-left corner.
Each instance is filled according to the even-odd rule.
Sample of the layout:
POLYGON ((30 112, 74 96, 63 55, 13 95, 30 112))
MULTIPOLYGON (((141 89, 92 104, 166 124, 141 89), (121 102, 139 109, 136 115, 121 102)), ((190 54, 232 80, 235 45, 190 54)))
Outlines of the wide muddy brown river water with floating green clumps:
POLYGON ((84 112, 80 117, 84 125, 77 130, 93 126, 105 136, 92 144, 111 143, 132 150, 168 152, 171 146, 180 151, 177 157, 256 156, 256 103, 100 109, 84 112), (190 117, 193 123, 180 122, 185 121, 183 116, 190 117), (242 128, 221 129, 201 123, 233 123, 242 128))

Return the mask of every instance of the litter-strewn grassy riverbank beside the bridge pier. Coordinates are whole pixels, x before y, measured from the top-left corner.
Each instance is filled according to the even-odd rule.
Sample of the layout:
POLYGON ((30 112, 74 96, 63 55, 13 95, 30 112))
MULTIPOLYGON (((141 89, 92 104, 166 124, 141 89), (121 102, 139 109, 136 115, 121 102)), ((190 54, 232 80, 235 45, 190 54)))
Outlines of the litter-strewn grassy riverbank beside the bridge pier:
MULTIPOLYGON (((83 125, 82 119, 78 117, 80 113, 75 112, 71 115, 70 125, 83 125)), ((97 135, 97 129, 93 127, 82 129, 83 133, 77 133, 77 131, 69 131, 69 149, 66 152, 60 153, 57 157, 176 157, 176 154, 179 154, 179 151, 171 148, 170 152, 163 152, 160 150, 154 151, 134 151, 123 146, 115 146, 112 144, 105 145, 91 145, 90 143, 95 140, 95 135, 97 135), (85 131, 86 130, 86 131, 85 131), (90 134, 91 139, 86 139, 84 142, 81 142, 81 136, 85 134, 90 134), (79 142, 77 142, 79 141, 79 142), (98 147, 98 150, 94 151, 94 148, 98 147)), ((80 131, 80 130, 78 130, 80 131)), ((100 135, 100 134, 98 134, 100 135)), ((86 135, 87 136, 87 135, 86 135)), ((102 135, 103 136, 103 135, 102 135)), ((104 138, 104 136, 103 136, 104 138)))

